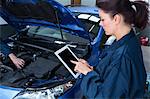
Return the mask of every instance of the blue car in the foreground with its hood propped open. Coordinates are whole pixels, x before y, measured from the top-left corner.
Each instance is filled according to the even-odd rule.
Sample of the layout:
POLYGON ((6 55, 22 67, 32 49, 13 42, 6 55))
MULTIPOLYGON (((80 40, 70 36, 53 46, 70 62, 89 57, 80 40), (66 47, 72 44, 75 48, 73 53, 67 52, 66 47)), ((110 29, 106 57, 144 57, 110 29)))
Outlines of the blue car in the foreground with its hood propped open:
POLYGON ((1 39, 25 60, 24 68, 18 70, 3 56, 0 99, 83 97, 80 77, 74 79, 54 52, 69 44, 79 58, 90 59, 98 53, 102 28, 94 38, 70 10, 54 0, 1 0, 0 16, 6 22, 0 26, 1 39), (90 53, 94 47, 97 50, 90 53))

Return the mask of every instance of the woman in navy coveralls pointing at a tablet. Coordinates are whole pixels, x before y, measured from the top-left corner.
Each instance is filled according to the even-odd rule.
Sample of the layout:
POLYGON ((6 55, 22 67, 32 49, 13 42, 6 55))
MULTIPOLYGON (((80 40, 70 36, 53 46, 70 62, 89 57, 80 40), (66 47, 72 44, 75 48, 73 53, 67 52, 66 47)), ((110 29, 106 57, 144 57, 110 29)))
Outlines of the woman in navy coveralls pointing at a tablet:
POLYGON ((71 61, 75 71, 84 74, 81 89, 87 98, 142 98, 146 82, 141 47, 132 29, 148 23, 148 4, 144 1, 97 0, 100 25, 116 41, 102 51, 99 63, 71 61))

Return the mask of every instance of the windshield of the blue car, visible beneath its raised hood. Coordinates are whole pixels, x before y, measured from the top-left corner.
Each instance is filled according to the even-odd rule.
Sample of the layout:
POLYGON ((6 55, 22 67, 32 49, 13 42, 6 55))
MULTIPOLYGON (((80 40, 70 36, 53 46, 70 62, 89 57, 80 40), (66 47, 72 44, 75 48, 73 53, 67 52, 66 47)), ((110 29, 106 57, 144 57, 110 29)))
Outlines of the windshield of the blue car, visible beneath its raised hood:
POLYGON ((72 41, 77 43, 89 43, 89 40, 71 34, 69 31, 62 29, 62 34, 59 29, 49 28, 44 26, 30 26, 27 35, 29 36, 45 36, 60 40, 72 41))

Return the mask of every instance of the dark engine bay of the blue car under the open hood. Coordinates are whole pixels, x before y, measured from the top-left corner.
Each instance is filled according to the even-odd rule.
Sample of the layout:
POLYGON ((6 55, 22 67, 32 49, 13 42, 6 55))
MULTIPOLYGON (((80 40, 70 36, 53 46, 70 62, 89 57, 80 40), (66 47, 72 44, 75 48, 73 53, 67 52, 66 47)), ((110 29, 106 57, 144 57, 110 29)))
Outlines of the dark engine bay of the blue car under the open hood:
MULTIPOLYGON (((22 69, 17 69, 8 57, 4 57, 3 64, 0 64, 0 84, 16 88, 52 88, 70 81, 75 82, 73 76, 54 55, 54 52, 66 43, 57 44, 58 39, 47 40, 47 37, 39 38, 35 35, 33 38, 27 33, 29 30, 9 38, 11 42, 8 45, 18 58, 25 61, 25 65, 22 69)), ((83 46, 69 43, 76 46, 72 50, 78 57, 84 57, 88 53, 88 44, 83 46)))

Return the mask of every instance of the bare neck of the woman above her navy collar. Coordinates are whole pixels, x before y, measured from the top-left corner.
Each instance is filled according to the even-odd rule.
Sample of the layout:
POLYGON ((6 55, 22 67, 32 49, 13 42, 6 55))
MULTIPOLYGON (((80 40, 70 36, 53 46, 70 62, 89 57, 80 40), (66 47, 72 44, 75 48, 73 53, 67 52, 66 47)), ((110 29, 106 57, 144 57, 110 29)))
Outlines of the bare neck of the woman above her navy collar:
POLYGON ((131 31, 131 26, 121 26, 119 29, 116 29, 116 33, 114 34, 116 36, 116 40, 120 40, 122 37, 127 35, 131 31))

